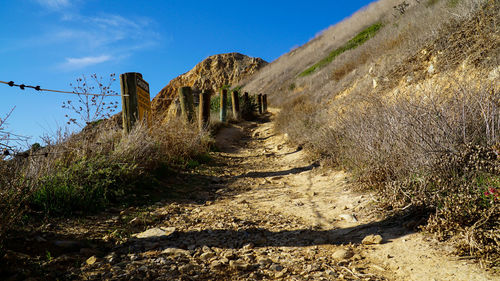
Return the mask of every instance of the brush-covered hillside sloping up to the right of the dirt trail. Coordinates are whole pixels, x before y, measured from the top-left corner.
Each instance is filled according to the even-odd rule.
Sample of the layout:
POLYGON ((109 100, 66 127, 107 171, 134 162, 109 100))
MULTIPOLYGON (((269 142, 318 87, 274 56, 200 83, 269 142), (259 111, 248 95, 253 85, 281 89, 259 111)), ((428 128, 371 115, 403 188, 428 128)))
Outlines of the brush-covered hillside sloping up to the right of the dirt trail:
POLYGON ((380 0, 242 82, 390 214, 499 265, 500 3, 380 0))

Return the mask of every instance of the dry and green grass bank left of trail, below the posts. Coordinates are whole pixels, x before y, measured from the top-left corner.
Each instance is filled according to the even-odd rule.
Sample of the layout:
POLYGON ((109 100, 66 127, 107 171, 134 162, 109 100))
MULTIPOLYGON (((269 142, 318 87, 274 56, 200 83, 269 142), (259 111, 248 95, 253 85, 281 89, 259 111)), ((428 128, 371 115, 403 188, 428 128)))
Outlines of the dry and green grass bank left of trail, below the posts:
POLYGON ((45 141, 0 162, 0 236, 25 211, 66 216, 101 210, 165 176, 165 167, 205 156, 211 145, 208 132, 180 120, 150 128, 139 123, 128 135, 113 122, 94 122, 45 141))

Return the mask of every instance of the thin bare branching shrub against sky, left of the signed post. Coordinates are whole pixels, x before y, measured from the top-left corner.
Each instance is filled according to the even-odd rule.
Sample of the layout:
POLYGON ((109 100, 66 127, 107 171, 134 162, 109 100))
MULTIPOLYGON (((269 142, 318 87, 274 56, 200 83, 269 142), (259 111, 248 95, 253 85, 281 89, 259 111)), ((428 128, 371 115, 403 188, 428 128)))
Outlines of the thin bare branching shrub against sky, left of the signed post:
POLYGON ((97 74, 92 74, 90 79, 82 75, 81 78, 76 79, 76 84, 70 83, 77 98, 63 102, 62 108, 71 111, 70 114, 65 115, 66 123, 83 128, 94 121, 111 117, 118 108, 118 101, 108 102, 106 98, 117 95, 111 89, 115 81, 113 73, 109 75, 109 80, 106 82, 97 74))

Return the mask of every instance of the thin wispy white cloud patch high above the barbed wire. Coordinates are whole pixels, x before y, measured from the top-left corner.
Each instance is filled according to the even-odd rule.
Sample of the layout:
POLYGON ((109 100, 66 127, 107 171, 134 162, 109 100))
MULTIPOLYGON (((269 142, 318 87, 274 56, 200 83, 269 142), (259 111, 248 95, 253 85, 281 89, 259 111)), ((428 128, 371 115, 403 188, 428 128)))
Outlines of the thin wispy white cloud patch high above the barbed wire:
POLYGON ((52 14, 43 33, 24 40, 21 45, 60 49, 57 66, 65 70, 126 59, 161 41, 155 22, 148 17, 96 12, 83 0, 32 1, 60 17, 52 14))

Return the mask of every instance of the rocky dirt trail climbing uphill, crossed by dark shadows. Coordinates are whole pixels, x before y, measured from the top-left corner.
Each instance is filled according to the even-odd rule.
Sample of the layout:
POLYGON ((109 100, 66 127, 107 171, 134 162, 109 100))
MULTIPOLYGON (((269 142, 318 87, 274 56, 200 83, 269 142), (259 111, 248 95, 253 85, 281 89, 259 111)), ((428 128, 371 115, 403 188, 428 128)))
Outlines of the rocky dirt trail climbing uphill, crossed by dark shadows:
POLYGON ((381 219, 273 118, 224 127, 212 162, 128 203, 17 229, 2 280, 500 280, 416 232, 424 217, 381 219))

